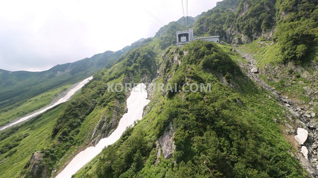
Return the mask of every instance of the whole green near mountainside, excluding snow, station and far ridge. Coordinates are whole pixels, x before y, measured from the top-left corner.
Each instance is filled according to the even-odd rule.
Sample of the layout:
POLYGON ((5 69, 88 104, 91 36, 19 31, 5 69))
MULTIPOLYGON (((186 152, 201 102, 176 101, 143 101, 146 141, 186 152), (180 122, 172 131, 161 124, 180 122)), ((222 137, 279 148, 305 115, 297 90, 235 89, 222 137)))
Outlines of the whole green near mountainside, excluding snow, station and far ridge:
POLYGON ((143 119, 75 177, 318 176, 317 5, 223 0, 189 19, 196 36, 220 35, 221 43, 175 46, 176 31, 185 29, 181 18, 123 52, 93 56, 109 62, 93 62, 100 70, 89 71, 94 79, 80 93, 1 132, 1 176, 56 176, 109 136, 127 111, 129 92, 109 91, 108 84, 133 82, 148 87, 143 119), (158 83, 176 83, 177 90, 151 91, 158 83), (211 91, 182 90, 190 83, 210 83, 211 91), (309 132, 301 145, 298 127, 309 132))

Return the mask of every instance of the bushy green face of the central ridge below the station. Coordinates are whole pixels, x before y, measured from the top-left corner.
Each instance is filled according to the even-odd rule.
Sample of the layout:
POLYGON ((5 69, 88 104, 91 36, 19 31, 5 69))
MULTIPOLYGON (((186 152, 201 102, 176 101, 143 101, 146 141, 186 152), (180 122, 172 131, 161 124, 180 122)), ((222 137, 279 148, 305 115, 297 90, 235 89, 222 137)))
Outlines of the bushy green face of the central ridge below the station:
MULTIPOLYGON (((227 46, 222 48, 231 53, 232 60, 239 58, 227 46)), ((167 53, 169 51, 166 52, 167 58, 173 58, 173 52, 167 53)), ((161 62, 167 61, 162 59, 161 62)), ((198 64, 181 65, 167 65, 165 71, 168 72, 157 82, 165 82, 164 77, 168 75, 172 75, 171 80, 174 81, 179 78, 179 72, 185 72, 192 82, 198 82, 198 79, 212 82, 212 92, 181 92, 167 97, 157 91, 146 108, 150 112, 133 129, 126 131, 120 140, 82 168, 76 177, 209 176, 207 168, 213 169, 214 176, 306 175, 298 161, 290 155, 290 151, 295 150, 280 132, 280 127, 290 122, 286 119, 286 111, 271 94, 255 86, 238 71, 237 75, 230 77, 237 84, 232 88, 222 83, 215 74, 202 71, 198 64), (174 73, 171 68, 178 69, 174 73), (206 103, 203 96, 212 102, 206 103), (237 99, 243 104, 238 104, 237 99), (213 109, 219 109, 220 113, 204 114, 213 112, 213 109), (163 159, 161 155, 160 162, 154 165, 157 153, 155 141, 170 121, 177 128, 174 138, 176 150, 172 158, 163 159), (137 158, 140 154, 142 157, 137 158)), ((183 81, 183 77, 179 79, 183 81)))

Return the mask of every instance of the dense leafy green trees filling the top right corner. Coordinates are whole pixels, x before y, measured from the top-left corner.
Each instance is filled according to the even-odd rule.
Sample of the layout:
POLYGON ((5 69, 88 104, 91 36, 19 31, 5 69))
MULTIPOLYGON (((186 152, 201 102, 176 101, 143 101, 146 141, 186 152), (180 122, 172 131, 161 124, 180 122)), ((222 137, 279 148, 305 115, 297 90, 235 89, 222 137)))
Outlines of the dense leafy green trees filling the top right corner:
POLYGON ((279 0, 276 8, 278 8, 279 23, 275 37, 280 44, 284 60, 303 62, 316 57, 318 2, 315 0, 279 0))

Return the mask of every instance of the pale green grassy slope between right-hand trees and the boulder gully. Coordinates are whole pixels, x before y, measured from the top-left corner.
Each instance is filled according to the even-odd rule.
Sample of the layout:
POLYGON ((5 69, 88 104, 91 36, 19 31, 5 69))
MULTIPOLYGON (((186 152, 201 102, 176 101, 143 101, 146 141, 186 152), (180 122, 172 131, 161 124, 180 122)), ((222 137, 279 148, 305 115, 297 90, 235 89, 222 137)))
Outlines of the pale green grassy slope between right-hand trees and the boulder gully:
MULTIPOLYGON (((318 90, 316 80, 318 73, 316 69, 312 67, 312 64, 317 62, 318 58, 312 57, 313 59, 311 61, 303 63, 290 61, 284 64, 279 48, 278 43, 266 41, 262 38, 250 44, 239 46, 240 50, 253 54, 257 66, 262 70, 266 70, 266 66, 271 66, 272 68, 277 67, 277 71, 267 69, 265 72, 261 72, 260 76, 266 83, 276 88, 276 90, 281 91, 284 95, 297 100, 299 103, 308 104, 310 98, 305 94, 303 87, 310 86, 318 90), (296 66, 296 69, 294 66, 296 66)), ((318 106, 313 106, 313 109, 317 112, 318 106)))

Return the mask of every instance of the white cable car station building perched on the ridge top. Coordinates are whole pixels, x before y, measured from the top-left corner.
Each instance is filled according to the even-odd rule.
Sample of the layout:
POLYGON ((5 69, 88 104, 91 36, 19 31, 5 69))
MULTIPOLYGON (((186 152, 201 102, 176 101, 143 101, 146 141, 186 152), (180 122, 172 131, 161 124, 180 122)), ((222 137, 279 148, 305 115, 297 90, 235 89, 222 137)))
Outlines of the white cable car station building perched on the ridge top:
POLYGON ((195 38, 193 36, 193 28, 189 28, 189 30, 177 31, 176 45, 180 47, 182 44, 186 44, 190 41, 197 40, 197 39, 219 42, 219 37, 220 36, 206 36, 206 37, 195 38))

